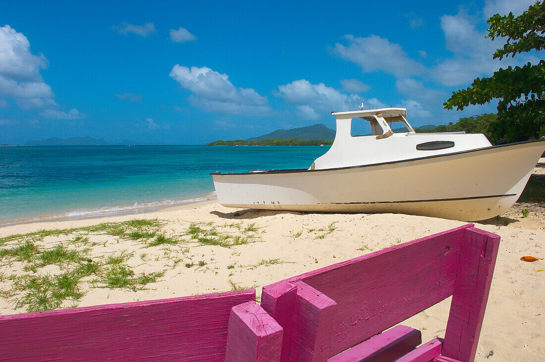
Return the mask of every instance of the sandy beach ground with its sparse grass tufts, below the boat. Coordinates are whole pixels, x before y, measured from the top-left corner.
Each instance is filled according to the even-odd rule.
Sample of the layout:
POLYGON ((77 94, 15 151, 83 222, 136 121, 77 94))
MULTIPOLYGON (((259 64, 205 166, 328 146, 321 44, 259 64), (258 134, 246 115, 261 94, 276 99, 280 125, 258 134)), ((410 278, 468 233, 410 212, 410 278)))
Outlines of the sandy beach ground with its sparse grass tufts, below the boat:
MULTIPOLYGON (((544 161, 542 158, 536 173, 543 174, 544 161)), ((0 237, 2 249, 15 250, 24 242, 41 251, 62 245, 65 251, 84 255, 82 260, 87 260, 88 266, 96 263, 102 271, 116 267, 129 270, 126 275, 134 283, 124 287, 88 273, 76 287, 81 298, 76 302, 66 297, 60 305, 70 307, 248 287, 256 287, 259 298, 263 285, 463 224, 404 214, 235 210, 211 200, 131 216, 10 225, 0 228, 0 237), (141 219, 158 221, 143 227, 131 224, 131 220, 141 219), (110 223, 107 230, 111 233, 104 227, 90 228, 100 223, 110 223), (44 231, 51 229, 66 230, 44 231), (35 234, 7 237, 27 233, 35 234), (115 257, 117 261, 112 261, 115 257)), ((476 360, 541 360, 545 354, 545 274, 540 269, 545 269, 545 263, 524 262, 520 257, 543 257, 545 206, 516 204, 500 218, 475 225, 501 236, 476 360), (523 209, 528 210, 528 216, 524 217, 523 209)), ((24 288, 30 287, 29 278, 58 275, 71 265, 48 262, 38 252, 33 262, 29 262, 32 257, 17 259, 19 251, 10 253, 4 253, 0 266, 3 315, 26 312, 28 303, 32 304, 23 298, 24 288), (25 275, 26 279, 17 279, 25 275)), ((449 307, 450 298, 404 324, 422 330, 423 341, 443 337, 449 307)))

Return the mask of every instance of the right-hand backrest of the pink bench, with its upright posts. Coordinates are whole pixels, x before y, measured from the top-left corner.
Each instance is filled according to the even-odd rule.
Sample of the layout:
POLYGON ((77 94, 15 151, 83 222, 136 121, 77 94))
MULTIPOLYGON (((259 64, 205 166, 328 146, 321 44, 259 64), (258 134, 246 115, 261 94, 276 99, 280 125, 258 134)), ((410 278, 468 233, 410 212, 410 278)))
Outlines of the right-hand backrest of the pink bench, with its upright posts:
POLYGON ((289 339, 283 358, 323 360, 452 295, 443 355, 473 360, 498 247, 468 224, 284 280, 292 310, 275 305, 278 284, 265 287, 262 306, 289 339))

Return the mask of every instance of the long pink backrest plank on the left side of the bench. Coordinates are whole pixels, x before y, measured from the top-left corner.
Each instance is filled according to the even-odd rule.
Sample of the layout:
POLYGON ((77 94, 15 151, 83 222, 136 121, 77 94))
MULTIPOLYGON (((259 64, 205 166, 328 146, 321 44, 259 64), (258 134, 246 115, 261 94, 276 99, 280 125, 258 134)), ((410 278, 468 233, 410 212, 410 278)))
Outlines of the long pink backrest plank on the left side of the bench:
POLYGON ((255 290, 0 316, 0 360, 223 360, 255 290))

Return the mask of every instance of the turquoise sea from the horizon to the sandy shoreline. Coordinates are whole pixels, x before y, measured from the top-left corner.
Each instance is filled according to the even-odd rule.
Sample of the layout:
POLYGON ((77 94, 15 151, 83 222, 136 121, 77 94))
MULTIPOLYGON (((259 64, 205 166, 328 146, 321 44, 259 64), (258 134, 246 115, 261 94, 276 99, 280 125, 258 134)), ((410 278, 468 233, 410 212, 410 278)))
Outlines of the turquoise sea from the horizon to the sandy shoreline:
POLYGON ((320 146, 0 147, 0 225, 214 197, 210 173, 308 168, 320 146))

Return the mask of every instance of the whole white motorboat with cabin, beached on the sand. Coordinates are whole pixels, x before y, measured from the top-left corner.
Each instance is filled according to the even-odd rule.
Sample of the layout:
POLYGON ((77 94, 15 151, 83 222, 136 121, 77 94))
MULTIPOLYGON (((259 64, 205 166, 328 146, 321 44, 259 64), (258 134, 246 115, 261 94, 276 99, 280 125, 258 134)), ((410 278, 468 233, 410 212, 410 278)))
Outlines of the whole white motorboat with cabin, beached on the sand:
POLYGON ((484 220, 517 201, 545 150, 545 139, 493 146, 483 134, 417 133, 405 108, 332 114, 335 140, 308 169, 211 174, 218 202, 265 210, 484 220), (361 122, 369 134, 354 133, 361 122), (394 132, 392 124, 405 129, 394 132))

